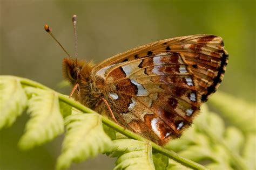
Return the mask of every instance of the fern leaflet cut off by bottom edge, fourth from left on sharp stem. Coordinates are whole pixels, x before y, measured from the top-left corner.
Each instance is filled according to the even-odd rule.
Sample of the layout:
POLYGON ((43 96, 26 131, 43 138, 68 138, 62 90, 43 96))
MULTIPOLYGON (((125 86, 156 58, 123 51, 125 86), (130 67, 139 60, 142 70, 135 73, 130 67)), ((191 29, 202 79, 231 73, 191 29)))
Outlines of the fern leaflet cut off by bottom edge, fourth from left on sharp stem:
POLYGON ((154 169, 150 143, 126 138, 116 139, 107 154, 118 157, 114 169, 154 169))

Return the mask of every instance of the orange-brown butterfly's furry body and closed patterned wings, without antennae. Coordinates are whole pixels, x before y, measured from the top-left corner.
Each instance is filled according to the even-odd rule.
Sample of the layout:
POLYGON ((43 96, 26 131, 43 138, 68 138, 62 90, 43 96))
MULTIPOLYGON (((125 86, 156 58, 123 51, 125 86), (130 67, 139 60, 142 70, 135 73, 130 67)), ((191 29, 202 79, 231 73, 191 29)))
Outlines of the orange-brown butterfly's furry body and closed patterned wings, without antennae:
POLYGON ((152 42, 98 65, 64 59, 63 73, 79 89, 75 99, 157 144, 177 138, 223 79, 223 40, 194 35, 152 42))

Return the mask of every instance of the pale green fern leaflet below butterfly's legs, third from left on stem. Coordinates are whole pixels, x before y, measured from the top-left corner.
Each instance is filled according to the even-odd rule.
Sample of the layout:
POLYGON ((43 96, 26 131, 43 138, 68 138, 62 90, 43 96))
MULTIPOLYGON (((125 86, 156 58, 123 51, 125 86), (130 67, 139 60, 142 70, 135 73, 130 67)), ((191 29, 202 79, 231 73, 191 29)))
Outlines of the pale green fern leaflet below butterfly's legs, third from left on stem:
POLYGON ((111 139, 105 134, 98 114, 72 111, 72 115, 65 118, 65 124, 68 132, 63 141, 62 154, 57 161, 57 169, 68 168, 71 162, 95 157, 111 145, 111 139))

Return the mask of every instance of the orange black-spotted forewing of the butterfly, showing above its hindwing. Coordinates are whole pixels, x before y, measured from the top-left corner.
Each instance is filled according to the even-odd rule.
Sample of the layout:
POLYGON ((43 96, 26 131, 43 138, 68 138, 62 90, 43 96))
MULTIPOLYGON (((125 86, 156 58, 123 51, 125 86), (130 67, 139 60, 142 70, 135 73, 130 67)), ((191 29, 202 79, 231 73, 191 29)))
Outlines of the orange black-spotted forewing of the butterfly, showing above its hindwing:
POLYGON ((99 63, 92 72, 102 75, 106 73, 107 68, 118 63, 166 52, 177 52, 181 55, 185 65, 188 66, 188 70, 193 75, 197 91, 200 91, 200 100, 202 102, 207 101, 207 97, 215 92, 223 80, 228 61, 223 39, 218 36, 199 34, 152 42, 114 55, 99 63))

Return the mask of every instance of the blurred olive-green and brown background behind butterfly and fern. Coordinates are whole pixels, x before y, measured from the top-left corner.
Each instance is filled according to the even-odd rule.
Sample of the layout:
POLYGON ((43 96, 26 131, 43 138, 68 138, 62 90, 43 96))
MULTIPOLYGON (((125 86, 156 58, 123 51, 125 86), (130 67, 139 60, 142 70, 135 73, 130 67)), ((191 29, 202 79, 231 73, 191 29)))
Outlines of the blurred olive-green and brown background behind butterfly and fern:
MULTIPOLYGON (((32 79, 58 89, 66 54, 44 31, 75 52, 72 15, 78 16, 79 59, 96 63, 152 41, 191 34, 215 34, 230 54, 220 86, 255 103, 255 1, 8 1, 0 0, 0 74, 32 79)), ((63 137, 31 151, 19 151, 28 116, 0 131, 0 169, 53 169, 63 137), (15 161, 14 161, 15 160, 15 161)), ((112 169, 114 159, 97 157, 71 169, 112 169)))

